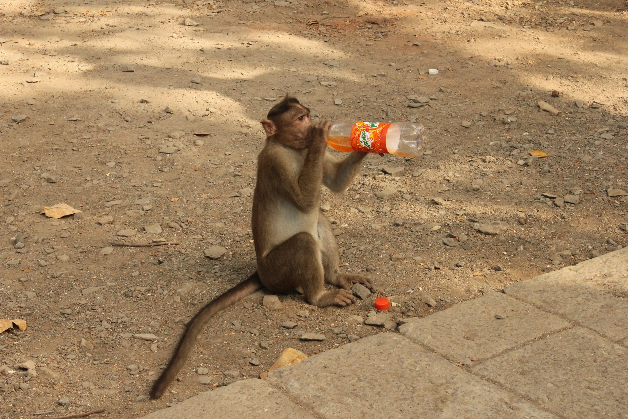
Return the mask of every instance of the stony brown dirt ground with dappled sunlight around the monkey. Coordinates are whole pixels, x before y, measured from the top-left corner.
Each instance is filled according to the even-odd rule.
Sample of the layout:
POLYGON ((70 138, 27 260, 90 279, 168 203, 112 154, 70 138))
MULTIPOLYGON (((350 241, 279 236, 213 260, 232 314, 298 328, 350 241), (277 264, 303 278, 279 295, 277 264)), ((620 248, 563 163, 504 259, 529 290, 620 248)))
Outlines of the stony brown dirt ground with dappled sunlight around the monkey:
POLYGON ((384 331, 363 322, 380 295, 394 320, 425 316, 625 246, 627 7, 0 1, 0 315, 27 324, 0 334, 0 417, 143 415, 286 347, 384 331), (380 293, 237 303, 148 401, 185 322, 255 269, 259 121, 284 94, 317 118, 426 126, 424 155, 371 155, 349 191, 323 192, 341 269, 380 293), (39 214, 58 203, 82 212, 39 214))

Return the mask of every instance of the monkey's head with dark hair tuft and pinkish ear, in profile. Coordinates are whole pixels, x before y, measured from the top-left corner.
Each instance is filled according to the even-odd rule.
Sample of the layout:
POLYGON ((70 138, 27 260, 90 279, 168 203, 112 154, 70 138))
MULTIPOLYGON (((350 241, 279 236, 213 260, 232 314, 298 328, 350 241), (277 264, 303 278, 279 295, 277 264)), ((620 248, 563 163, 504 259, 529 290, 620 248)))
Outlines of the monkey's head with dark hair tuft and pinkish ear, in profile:
POLYGON ((261 122, 266 136, 274 136, 284 146, 296 150, 310 147, 310 109, 301 105, 295 97, 286 95, 271 107, 266 119, 261 122))

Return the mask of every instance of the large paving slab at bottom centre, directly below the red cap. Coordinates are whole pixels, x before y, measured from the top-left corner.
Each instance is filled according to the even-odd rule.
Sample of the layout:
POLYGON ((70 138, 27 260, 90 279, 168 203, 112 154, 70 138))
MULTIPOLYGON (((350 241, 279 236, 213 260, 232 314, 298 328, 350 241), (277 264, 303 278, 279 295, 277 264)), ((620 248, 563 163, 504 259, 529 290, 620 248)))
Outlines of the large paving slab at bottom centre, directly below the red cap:
POLYGON ((267 381, 323 418, 555 417, 393 333, 276 369, 267 381))

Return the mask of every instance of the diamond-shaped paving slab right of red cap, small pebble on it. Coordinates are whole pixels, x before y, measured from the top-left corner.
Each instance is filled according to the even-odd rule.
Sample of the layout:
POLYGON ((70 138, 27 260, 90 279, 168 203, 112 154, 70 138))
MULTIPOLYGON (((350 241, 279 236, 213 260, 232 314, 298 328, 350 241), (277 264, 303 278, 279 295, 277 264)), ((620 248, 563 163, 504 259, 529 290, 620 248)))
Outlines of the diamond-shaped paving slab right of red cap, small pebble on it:
POLYGON ((470 359, 489 359, 569 325, 556 315, 492 292, 401 325, 399 332, 438 354, 469 364, 470 359))

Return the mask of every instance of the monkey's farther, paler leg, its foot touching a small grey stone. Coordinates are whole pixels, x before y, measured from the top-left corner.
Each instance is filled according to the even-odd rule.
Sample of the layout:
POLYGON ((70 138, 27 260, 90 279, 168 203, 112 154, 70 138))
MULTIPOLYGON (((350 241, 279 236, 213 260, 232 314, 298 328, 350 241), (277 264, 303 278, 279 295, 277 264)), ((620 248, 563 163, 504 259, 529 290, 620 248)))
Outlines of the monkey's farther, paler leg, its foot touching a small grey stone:
POLYGON ((361 275, 338 273, 338 246, 333 236, 332 226, 327 218, 318 217, 318 240, 321 248, 321 261, 325 270, 325 282, 338 288, 350 290, 355 283, 364 284, 369 290, 374 290, 372 281, 361 275))

